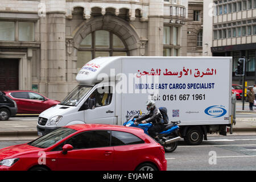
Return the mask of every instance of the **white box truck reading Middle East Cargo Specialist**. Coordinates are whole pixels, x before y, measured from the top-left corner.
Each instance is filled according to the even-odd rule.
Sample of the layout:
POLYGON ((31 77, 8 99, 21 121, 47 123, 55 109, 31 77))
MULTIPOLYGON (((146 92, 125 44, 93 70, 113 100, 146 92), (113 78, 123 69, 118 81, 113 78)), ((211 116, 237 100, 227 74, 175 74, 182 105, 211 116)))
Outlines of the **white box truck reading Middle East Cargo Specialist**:
POLYGON ((232 57, 99 57, 76 80, 63 102, 39 115, 38 135, 79 123, 123 125, 127 115, 147 112, 147 100, 181 121, 189 144, 233 125, 232 57))

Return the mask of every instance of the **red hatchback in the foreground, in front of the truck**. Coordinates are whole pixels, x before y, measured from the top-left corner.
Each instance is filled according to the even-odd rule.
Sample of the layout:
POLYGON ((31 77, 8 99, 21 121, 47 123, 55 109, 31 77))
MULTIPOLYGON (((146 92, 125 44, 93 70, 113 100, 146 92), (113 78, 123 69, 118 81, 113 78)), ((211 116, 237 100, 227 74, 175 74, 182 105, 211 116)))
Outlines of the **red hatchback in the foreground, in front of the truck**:
POLYGON ((142 129, 80 124, 0 150, 0 170, 164 170, 164 148, 142 129))

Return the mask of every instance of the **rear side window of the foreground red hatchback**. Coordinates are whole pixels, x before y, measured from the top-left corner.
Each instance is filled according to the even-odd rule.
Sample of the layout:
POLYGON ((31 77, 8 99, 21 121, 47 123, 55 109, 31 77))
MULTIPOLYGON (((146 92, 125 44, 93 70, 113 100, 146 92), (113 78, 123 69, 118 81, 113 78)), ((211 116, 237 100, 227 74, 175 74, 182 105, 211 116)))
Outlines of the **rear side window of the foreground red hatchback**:
POLYGON ((122 131, 112 131, 111 141, 112 146, 144 143, 144 140, 135 136, 134 134, 122 131))

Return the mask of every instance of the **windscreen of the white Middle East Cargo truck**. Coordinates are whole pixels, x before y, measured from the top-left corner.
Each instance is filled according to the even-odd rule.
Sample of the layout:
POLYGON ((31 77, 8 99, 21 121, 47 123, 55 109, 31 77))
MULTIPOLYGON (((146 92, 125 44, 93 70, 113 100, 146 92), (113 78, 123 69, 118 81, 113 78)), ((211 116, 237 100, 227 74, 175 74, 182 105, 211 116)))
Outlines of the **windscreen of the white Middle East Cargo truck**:
POLYGON ((84 98, 86 93, 92 89, 92 86, 78 85, 73 91, 60 103, 60 105, 77 106, 84 98))

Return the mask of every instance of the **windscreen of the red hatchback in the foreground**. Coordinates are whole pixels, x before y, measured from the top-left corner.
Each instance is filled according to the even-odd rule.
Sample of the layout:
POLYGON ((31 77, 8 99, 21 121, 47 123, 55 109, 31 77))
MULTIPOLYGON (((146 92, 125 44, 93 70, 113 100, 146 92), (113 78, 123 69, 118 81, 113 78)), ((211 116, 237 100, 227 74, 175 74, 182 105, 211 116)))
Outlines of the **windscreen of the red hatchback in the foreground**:
POLYGON ((27 144, 38 148, 48 148, 75 132, 76 130, 69 129, 68 127, 61 127, 27 144))

